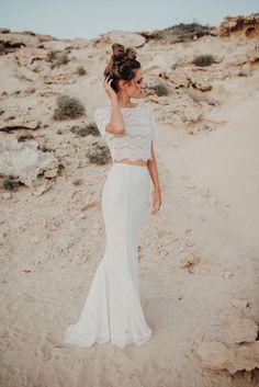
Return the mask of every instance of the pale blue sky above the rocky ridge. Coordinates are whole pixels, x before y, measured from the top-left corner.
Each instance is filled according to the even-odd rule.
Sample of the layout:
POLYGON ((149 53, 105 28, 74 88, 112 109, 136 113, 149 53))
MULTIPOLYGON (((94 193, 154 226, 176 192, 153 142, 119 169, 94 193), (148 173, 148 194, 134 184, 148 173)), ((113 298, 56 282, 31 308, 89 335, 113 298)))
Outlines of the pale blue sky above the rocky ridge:
POLYGON ((0 0, 0 27, 57 38, 93 38, 111 31, 153 31, 178 23, 218 25, 259 12, 259 0, 0 0))

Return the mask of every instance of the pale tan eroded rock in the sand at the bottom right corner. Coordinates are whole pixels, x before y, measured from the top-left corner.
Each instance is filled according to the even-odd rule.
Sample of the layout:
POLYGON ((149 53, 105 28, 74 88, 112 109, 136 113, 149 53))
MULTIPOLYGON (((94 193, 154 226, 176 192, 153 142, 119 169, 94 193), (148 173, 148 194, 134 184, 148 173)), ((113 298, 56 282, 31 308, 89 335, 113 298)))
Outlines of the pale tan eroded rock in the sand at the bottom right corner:
POLYGON ((193 352, 212 369, 251 371, 259 367, 258 326, 237 310, 223 311, 215 325, 193 332, 193 352))

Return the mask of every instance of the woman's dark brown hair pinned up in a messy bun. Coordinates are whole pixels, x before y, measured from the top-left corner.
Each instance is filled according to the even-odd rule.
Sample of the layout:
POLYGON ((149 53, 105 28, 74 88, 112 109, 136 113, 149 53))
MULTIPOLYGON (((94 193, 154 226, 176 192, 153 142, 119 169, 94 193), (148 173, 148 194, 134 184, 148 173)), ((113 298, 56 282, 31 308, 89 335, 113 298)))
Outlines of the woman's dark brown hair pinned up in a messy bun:
POLYGON ((136 60, 137 52, 133 47, 125 48, 122 44, 114 43, 112 50, 113 55, 103 71, 103 76, 113 79, 110 84, 117 92, 120 90, 119 81, 121 79, 131 81, 135 77, 135 70, 142 65, 136 60))

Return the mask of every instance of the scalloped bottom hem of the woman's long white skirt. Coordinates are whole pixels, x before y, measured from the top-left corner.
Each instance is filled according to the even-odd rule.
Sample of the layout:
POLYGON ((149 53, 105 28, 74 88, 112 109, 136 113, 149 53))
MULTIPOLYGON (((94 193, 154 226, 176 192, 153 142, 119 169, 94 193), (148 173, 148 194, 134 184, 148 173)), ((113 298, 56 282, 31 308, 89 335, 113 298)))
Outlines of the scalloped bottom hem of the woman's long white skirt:
POLYGON ((94 340, 94 342, 92 343, 87 343, 87 342, 80 342, 80 339, 79 340, 76 340, 76 341, 67 341, 67 343, 70 343, 70 344, 74 344, 74 345, 79 345, 79 346, 92 346, 94 344, 105 344, 106 342, 111 342, 112 345, 117 345, 120 346, 121 349, 125 348, 126 345, 130 345, 130 344, 137 344, 138 346, 140 346, 142 344, 146 343, 147 341, 150 341, 153 337, 153 331, 150 329, 150 332, 147 334, 147 335, 144 335, 142 338, 138 338, 136 339, 136 337, 134 335, 131 335, 124 340, 120 340, 120 339, 116 339, 116 338, 111 338, 110 335, 105 337, 104 339, 101 339, 101 338, 97 338, 94 340))

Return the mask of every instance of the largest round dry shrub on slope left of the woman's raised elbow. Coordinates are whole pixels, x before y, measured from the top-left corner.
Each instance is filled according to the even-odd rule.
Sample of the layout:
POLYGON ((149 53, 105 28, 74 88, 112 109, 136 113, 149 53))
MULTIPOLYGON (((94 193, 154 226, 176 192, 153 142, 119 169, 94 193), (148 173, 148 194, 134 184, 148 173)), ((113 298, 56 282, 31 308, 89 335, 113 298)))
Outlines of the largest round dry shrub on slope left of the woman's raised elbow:
POLYGON ((74 119, 80 117, 86 113, 85 106, 76 96, 70 96, 66 94, 58 95, 57 105, 58 107, 55 109, 53 115, 53 118, 57 121, 74 119))

